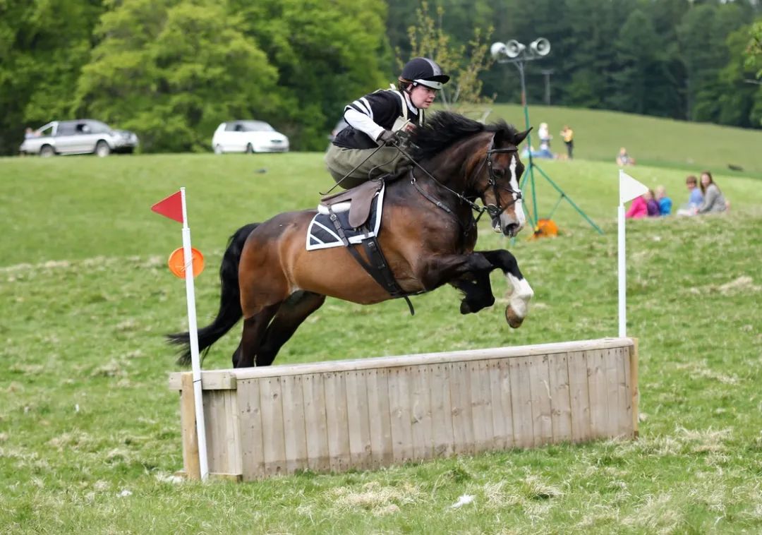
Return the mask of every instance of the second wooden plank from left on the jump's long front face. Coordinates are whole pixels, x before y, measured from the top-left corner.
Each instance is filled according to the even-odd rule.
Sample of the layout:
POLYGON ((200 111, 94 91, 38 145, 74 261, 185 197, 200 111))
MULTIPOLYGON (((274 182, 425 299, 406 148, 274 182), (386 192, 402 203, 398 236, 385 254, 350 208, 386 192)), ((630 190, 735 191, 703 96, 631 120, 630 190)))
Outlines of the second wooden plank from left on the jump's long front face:
POLYGON ((283 392, 280 377, 259 380, 262 429, 264 430, 264 473, 286 473, 286 439, 283 432, 283 392))

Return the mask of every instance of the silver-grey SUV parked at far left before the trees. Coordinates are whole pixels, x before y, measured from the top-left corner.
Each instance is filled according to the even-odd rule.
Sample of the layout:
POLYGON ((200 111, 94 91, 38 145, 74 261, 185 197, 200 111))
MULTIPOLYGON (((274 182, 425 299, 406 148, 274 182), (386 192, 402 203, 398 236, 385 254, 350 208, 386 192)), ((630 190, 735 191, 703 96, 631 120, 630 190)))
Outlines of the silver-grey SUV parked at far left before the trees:
POLYGON ((21 154, 97 154, 107 156, 111 152, 133 152, 138 146, 138 136, 126 130, 111 130, 99 120, 54 120, 40 127, 24 139, 21 154))

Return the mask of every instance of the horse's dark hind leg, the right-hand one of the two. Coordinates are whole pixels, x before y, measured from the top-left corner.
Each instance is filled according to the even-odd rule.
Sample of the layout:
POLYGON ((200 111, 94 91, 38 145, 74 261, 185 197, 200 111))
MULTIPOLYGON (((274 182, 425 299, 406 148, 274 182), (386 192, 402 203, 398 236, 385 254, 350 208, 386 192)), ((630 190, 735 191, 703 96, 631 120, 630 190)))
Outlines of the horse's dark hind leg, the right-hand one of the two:
POLYGON ((257 366, 269 366, 275 360, 289 338, 302 325, 307 316, 319 309, 325 302, 325 296, 318 293, 299 290, 283 301, 267 332, 264 341, 257 352, 257 366))

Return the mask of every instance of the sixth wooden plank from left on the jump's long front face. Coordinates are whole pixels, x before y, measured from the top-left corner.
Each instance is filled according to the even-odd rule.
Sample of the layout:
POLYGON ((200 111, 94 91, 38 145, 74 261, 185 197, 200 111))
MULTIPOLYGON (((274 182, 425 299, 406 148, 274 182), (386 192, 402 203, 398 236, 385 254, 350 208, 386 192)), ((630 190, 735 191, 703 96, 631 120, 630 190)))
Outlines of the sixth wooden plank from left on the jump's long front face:
POLYGON ((366 370, 344 373, 347 384, 347 423, 349 426, 349 461, 352 468, 371 467, 370 415, 366 370))

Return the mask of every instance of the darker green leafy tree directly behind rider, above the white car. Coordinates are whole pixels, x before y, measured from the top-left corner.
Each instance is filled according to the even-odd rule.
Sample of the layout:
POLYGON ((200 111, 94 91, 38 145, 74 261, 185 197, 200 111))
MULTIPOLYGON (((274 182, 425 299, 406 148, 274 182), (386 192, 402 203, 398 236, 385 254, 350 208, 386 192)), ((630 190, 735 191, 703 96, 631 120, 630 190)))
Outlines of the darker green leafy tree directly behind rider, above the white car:
POLYGON ((300 149, 324 149, 344 106, 393 79, 380 0, 230 0, 230 9, 277 69, 288 103, 277 127, 300 149))

